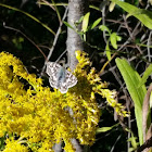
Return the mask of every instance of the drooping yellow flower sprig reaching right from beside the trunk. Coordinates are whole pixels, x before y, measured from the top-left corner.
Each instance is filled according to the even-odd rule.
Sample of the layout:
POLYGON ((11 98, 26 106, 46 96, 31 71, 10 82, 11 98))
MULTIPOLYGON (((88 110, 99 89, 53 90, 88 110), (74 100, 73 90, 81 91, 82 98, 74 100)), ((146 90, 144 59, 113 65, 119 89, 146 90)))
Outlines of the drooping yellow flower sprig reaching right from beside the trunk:
MULTIPOLYGON (((87 88, 86 93, 88 94, 90 94, 90 92, 101 94, 102 98, 106 99, 107 104, 115 109, 118 115, 122 115, 124 117, 129 116, 128 112, 124 110, 125 107, 121 103, 117 103, 115 99, 116 91, 111 91, 107 89, 107 84, 101 81, 101 78, 96 73, 96 69, 92 67, 91 69, 89 69, 89 73, 87 73, 86 66, 88 66, 88 68, 91 66, 91 62, 89 61, 87 54, 81 51, 76 51, 76 58, 79 62, 75 71, 79 81, 79 86, 77 85, 77 87, 80 90, 83 90, 83 86, 87 88), (87 79, 86 83, 84 81, 85 77, 87 79), (83 80, 80 81, 81 78, 83 80)), ((84 91, 81 91, 81 93, 84 94, 84 91)))

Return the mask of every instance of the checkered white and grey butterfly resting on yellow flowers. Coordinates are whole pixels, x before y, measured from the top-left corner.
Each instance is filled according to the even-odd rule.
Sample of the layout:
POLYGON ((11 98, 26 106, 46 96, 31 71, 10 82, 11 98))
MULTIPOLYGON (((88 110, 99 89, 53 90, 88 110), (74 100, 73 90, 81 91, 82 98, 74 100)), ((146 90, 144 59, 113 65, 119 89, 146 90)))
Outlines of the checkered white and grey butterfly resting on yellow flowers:
POLYGON ((68 88, 74 87, 77 84, 77 78, 65 67, 55 62, 47 63, 46 73, 50 76, 50 86, 60 89, 61 93, 66 93, 68 88))

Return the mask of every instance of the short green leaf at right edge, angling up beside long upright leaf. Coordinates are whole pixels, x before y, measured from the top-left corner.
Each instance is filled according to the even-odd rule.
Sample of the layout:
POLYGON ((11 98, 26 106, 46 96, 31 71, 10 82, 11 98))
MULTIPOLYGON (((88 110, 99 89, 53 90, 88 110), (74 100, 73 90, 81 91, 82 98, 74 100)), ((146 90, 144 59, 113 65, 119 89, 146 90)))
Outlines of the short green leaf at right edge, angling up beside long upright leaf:
POLYGON ((138 87, 142 86, 143 84, 147 83, 147 79, 148 77, 151 75, 152 73, 152 64, 149 65, 149 67, 145 69, 142 78, 141 78, 141 81, 139 83, 138 87))

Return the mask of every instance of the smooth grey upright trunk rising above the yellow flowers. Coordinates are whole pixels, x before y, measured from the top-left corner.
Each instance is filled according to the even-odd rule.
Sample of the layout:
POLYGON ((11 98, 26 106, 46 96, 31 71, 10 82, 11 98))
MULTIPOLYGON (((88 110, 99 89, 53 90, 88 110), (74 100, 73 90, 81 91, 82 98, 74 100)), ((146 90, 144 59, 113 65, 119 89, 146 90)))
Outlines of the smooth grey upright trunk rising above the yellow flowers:
MULTIPOLYGON (((89 10, 89 0, 69 0, 68 2, 68 15, 67 22, 75 28, 74 23, 78 22, 81 16, 84 16, 89 10)), ((78 30, 81 29, 81 25, 79 25, 78 30)), ((76 50, 84 50, 85 45, 80 39, 80 36, 71 29, 67 28, 67 41, 66 41, 66 49, 68 53, 68 64, 72 71, 75 69, 77 65, 77 60, 75 58, 76 50)))

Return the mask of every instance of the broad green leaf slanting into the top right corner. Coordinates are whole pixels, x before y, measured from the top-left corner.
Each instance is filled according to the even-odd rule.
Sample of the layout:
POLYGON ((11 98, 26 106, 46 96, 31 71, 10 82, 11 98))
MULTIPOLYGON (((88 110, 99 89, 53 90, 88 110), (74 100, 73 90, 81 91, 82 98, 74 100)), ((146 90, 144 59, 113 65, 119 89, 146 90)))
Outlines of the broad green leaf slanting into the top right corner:
POLYGON ((137 7, 129 4, 127 2, 123 2, 119 0, 111 0, 124 9, 129 15, 134 15, 137 17, 144 26, 152 29, 152 12, 143 9, 138 9, 137 7))

